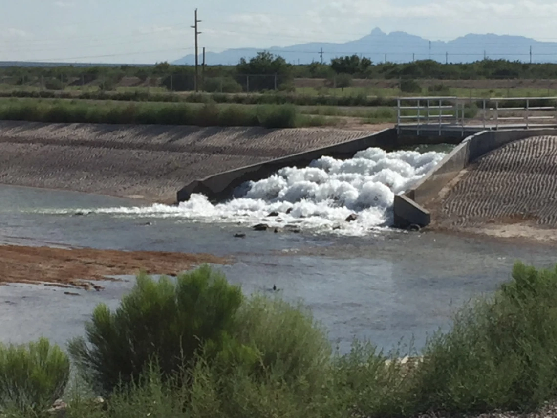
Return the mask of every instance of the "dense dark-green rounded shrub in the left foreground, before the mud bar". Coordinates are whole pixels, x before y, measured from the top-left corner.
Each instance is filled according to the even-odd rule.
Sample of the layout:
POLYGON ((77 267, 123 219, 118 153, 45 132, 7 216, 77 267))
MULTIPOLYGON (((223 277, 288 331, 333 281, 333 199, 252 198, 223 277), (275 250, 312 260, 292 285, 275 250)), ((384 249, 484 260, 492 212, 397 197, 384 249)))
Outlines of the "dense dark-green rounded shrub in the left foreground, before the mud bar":
POLYGON ((105 304, 95 308, 85 327, 87 341, 72 340, 70 354, 100 393, 137 381, 155 359, 165 380, 189 366, 204 342, 218 351, 241 301, 240 288, 208 266, 179 275, 175 283, 140 274, 115 312, 105 304))

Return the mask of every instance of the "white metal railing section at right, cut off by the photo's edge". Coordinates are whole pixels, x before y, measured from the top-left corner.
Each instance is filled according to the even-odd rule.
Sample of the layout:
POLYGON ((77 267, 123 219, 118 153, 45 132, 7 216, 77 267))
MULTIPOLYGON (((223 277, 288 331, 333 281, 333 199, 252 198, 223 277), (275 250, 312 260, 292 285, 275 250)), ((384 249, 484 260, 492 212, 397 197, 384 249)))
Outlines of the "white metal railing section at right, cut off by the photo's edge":
POLYGON ((495 129, 498 129, 500 125, 505 125, 510 121, 516 121, 517 123, 524 122, 524 127, 526 129, 533 125, 536 127, 554 126, 557 124, 557 97, 483 99, 482 121, 483 128, 495 127, 495 129), (513 101, 515 105, 512 105, 513 101), (525 103, 525 105, 516 105, 517 101, 525 103), (510 107, 509 105, 501 106, 501 104, 503 104, 501 102, 511 102, 510 107), (495 103, 495 106, 488 107, 488 103, 495 103), (532 103, 537 103, 537 105, 532 106, 532 103), (539 103, 550 105, 539 105, 539 103), (536 113, 532 115, 532 112, 544 114, 536 113), (539 123, 540 121, 542 123, 539 123))

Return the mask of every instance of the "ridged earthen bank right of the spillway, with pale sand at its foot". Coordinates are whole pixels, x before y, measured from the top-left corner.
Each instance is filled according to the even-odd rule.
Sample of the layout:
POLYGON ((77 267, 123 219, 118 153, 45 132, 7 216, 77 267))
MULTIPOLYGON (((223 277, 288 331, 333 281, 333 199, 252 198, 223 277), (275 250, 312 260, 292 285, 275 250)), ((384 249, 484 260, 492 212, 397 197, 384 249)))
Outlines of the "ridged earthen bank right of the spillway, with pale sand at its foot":
POLYGON ((431 229, 557 242, 557 137, 488 153, 426 206, 431 229))

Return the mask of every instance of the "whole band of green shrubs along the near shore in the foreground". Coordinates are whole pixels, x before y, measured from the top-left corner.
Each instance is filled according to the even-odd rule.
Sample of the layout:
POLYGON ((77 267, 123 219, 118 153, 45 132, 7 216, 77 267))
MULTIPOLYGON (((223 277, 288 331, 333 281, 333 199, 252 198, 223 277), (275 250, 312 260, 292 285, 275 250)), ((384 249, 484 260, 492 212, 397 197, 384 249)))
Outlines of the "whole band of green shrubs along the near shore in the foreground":
POLYGON ((355 341, 340 354, 303 306, 246 297, 207 266, 177 279, 140 275, 119 308, 97 306, 86 336, 69 344, 86 386, 62 391, 68 357, 45 340, 0 346, 0 415, 50 416, 58 396, 69 418, 536 410, 557 398, 555 299, 557 268, 516 263, 512 280, 458 310, 420 353, 355 341))

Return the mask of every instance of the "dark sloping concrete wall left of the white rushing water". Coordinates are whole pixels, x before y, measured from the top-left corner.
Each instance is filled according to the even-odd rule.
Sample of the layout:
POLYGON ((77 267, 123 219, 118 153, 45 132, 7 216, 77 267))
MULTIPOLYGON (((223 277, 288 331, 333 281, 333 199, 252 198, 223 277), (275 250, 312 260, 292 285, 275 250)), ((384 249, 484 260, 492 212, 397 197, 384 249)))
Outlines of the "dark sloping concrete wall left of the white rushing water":
POLYGON ((384 149, 397 148, 397 130, 394 128, 384 129, 368 137, 353 139, 341 144, 317 148, 195 180, 178 191, 178 202, 188 200, 192 193, 203 193, 213 201, 223 200, 231 197, 234 188, 240 186, 240 184, 250 180, 261 180, 277 172, 281 168, 289 166, 305 167, 311 161, 323 157, 323 155, 330 155, 335 158, 349 158, 356 152, 369 147, 380 147, 384 149))

